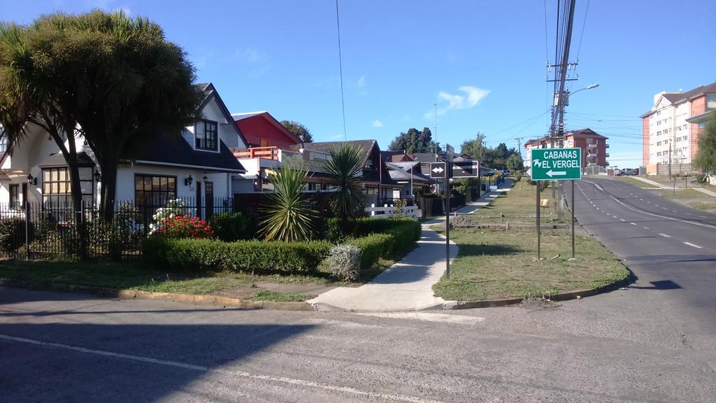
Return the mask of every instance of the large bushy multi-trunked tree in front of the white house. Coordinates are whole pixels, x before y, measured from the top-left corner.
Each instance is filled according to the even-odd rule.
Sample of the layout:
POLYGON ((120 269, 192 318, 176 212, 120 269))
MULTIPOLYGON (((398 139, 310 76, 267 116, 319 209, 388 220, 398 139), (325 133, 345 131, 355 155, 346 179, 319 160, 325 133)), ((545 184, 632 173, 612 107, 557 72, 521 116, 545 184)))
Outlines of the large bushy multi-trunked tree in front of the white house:
POLYGON ((4 85, 32 100, 26 122, 49 129, 75 200, 77 150, 74 141, 64 146, 64 135, 84 137, 102 171, 102 214, 111 219, 118 163, 149 136, 178 138, 196 118, 201 95, 185 52, 158 24, 121 11, 44 15, 29 27, 5 24, 1 36, 11 43, 0 51, 4 85))

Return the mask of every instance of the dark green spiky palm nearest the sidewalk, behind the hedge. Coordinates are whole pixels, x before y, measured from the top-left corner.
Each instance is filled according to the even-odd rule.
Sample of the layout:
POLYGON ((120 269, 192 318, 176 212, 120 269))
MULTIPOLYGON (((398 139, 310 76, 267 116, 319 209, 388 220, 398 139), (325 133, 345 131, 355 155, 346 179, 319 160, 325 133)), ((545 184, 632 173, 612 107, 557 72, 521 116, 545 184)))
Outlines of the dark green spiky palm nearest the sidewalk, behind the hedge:
POLYGON ((331 151, 331 159, 324 163, 329 175, 329 185, 337 191, 331 194, 334 214, 339 218, 344 233, 348 222, 363 215, 362 151, 350 144, 343 144, 331 151))

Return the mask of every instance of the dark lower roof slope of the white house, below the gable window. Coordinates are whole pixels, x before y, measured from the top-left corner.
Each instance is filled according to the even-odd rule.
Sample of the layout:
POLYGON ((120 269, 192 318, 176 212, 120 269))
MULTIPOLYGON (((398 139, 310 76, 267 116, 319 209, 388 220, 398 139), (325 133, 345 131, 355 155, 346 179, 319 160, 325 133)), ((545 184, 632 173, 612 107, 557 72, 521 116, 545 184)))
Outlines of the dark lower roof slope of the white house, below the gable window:
POLYGON ((137 151, 136 163, 191 166, 207 171, 246 172, 223 141, 219 152, 195 150, 181 136, 154 136, 137 151))

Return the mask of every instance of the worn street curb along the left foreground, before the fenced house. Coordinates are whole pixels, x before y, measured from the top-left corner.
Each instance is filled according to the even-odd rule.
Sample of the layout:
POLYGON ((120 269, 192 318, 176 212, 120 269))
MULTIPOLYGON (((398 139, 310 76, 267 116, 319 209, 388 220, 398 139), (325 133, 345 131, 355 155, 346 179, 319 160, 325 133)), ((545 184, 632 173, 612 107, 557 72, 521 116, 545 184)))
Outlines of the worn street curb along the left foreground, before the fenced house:
POLYGON ((314 310, 314 307, 305 302, 276 302, 241 300, 221 295, 192 295, 181 293, 153 293, 142 290, 116 290, 115 288, 90 287, 86 285, 29 283, 23 281, 0 280, 0 285, 30 290, 54 291, 58 293, 79 293, 97 295, 105 298, 118 298, 122 300, 168 300, 193 305, 213 305, 220 308, 240 309, 273 309, 273 310, 314 310))

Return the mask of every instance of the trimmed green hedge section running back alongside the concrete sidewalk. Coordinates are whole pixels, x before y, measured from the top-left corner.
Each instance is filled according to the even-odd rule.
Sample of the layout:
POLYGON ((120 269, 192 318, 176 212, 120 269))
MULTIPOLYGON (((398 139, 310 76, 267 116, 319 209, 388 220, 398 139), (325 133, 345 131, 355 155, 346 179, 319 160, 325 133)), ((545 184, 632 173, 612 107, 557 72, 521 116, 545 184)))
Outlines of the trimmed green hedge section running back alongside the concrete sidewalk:
MULTIPOLYGON (((393 257, 402 257, 412 249, 417 240, 420 240, 420 223, 412 219, 373 219, 372 224, 362 222, 357 227, 363 226, 362 229, 377 230, 385 228, 383 232, 368 234, 363 237, 347 240, 348 245, 355 245, 362 251, 361 267, 368 270, 372 267, 379 257, 390 259, 393 257)), ((358 230, 354 232, 360 234, 358 230)))

